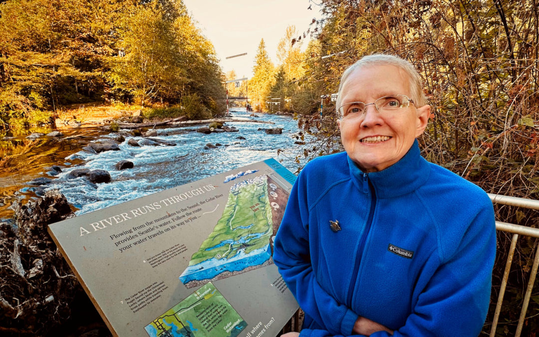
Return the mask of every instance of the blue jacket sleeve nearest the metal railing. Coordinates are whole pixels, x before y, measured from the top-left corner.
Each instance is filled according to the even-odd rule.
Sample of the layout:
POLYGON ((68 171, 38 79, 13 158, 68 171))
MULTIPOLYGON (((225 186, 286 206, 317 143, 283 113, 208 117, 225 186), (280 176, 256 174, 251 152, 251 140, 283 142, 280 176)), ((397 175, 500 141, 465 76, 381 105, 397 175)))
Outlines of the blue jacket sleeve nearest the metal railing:
MULTIPOLYGON (((490 204, 490 202, 489 202, 490 204)), ((496 255, 492 204, 468 226, 458 248, 440 264, 393 336, 476 337, 485 322, 496 255)), ((385 331, 371 337, 390 336, 385 331)))

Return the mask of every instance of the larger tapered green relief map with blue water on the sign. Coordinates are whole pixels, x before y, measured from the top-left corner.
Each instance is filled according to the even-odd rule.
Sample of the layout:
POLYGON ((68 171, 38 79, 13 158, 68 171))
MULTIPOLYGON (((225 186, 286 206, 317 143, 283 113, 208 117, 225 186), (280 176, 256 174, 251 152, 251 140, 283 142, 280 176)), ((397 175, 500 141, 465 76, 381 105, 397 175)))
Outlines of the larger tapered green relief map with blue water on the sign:
MULTIPOLYGON (((179 276, 186 287, 272 263, 273 214, 279 213, 280 207, 270 198, 279 196, 276 190, 277 185, 267 175, 232 185, 223 215, 179 276)), ((288 193, 279 193, 288 198, 288 193)))

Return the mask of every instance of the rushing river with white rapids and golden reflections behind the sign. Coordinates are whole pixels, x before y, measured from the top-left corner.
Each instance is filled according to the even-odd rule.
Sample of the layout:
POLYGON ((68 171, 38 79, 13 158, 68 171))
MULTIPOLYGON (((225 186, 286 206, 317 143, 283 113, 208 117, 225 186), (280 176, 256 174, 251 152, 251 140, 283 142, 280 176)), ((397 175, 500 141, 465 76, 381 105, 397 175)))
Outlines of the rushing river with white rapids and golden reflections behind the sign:
MULTIPOLYGON (((245 109, 231 109, 234 118, 252 119, 245 109)), ((77 210, 75 214, 109 207, 133 200, 154 192, 176 187, 215 174, 262 161, 270 157, 281 161, 287 169, 295 172, 300 164, 296 155, 303 152, 294 142, 298 134, 298 123, 289 115, 257 114, 261 121, 229 122, 239 132, 202 134, 195 132, 199 126, 156 128, 154 138, 175 143, 176 146, 133 147, 126 141, 120 143, 120 151, 106 151, 92 154, 82 150, 89 142, 114 139, 118 134, 103 132, 100 128, 75 129, 64 132, 64 138, 29 142, 24 138, 11 140, 17 143, 17 161, 8 162, 8 167, 0 167, 0 218, 12 216, 10 205, 16 198, 35 197, 34 187, 27 184, 33 178, 47 177, 51 183, 45 190, 59 189, 77 210), (259 128, 282 128, 282 134, 266 134, 259 128), (238 137, 245 139, 238 139, 238 137), (221 144, 216 149, 204 149, 206 143, 221 144), (277 150, 282 152, 278 155, 277 150), (134 168, 116 170, 120 160, 129 160, 134 168), (50 169, 57 165, 59 174, 50 169), (94 184, 86 177, 68 179, 73 169, 88 168, 107 170, 112 177, 109 183, 94 184)), ((142 137, 133 137, 140 140, 142 137)), ((1 163, 1 162, 0 162, 1 163)), ((4 166, 5 163, 4 163, 4 166)))

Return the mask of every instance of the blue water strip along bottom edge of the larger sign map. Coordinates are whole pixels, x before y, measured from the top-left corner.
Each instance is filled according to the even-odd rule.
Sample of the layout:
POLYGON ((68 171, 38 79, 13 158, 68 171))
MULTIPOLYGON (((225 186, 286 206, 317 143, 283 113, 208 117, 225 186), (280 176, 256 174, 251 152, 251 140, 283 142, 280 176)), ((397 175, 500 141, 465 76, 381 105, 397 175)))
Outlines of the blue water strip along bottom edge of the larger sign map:
POLYGON ((261 265, 271 257, 269 244, 265 247, 255 249, 250 253, 245 253, 240 249, 236 255, 229 259, 211 258, 196 265, 187 267, 179 279, 183 284, 194 280, 205 280, 216 277, 225 271, 236 272, 244 270, 249 266, 261 265), (202 269, 200 269, 202 267, 202 269))

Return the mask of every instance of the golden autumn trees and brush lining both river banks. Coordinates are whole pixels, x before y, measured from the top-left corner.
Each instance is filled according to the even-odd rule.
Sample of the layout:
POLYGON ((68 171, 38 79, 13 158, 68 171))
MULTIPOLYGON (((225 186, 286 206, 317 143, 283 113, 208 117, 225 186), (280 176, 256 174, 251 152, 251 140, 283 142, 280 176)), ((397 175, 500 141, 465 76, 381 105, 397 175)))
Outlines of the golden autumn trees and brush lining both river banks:
MULTIPOLYGON (((363 55, 396 54, 416 66, 432 106, 419 140, 423 155, 487 192, 538 197, 537 0, 317 3, 323 18, 306 31, 288 27, 277 65, 261 40, 253 77, 229 85, 230 95, 248 89, 255 109, 271 112, 278 104, 294 114, 316 136, 300 154, 310 159, 340 149, 335 107, 322 99, 320 111, 321 96, 336 93, 343 70, 363 55)), ((225 111, 224 81, 236 78, 218 62, 180 0, 2 1, 0 132, 49 123, 64 106, 91 101, 191 106, 174 111, 218 116, 225 111)), ((531 210, 496 212, 501 221, 531 227, 539 220, 531 210)), ((501 283, 509 243, 499 233, 493 284, 501 283)), ((515 329, 536 245, 519 240, 499 335, 515 329)), ((528 335, 539 330, 537 283, 528 335)), ((496 287, 492 296, 495 306, 496 287)), ((493 308, 485 331, 492 314, 493 308)))

